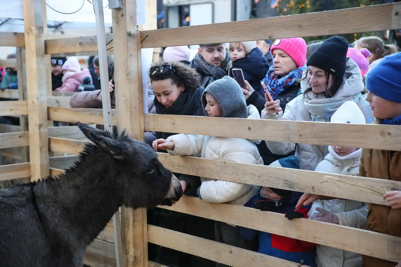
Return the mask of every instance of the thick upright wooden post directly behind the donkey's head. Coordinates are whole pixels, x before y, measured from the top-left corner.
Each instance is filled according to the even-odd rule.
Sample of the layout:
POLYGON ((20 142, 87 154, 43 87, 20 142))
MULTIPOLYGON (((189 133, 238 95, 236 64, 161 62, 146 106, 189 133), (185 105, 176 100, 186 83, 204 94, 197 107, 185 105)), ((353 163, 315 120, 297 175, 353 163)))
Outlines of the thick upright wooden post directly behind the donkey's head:
MULTIPOLYGON (((130 135, 144 140, 140 44, 136 26, 136 0, 122 0, 113 10, 114 78, 117 124, 130 135), (138 56, 139 55, 139 56, 138 56)), ((146 209, 122 207, 124 267, 148 266, 146 209)))

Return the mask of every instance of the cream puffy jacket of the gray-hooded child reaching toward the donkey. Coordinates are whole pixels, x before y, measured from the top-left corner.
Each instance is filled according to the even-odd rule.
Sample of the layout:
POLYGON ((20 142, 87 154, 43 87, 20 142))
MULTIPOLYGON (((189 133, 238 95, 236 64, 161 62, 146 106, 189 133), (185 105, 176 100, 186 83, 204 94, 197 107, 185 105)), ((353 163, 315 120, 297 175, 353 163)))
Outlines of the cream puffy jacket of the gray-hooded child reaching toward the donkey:
MULTIPOLYGON (((257 108, 248 106, 248 118, 260 118, 257 108)), ((174 143, 174 149, 168 150, 170 155, 196 156, 205 159, 219 159, 239 163, 263 165, 256 144, 260 140, 246 140, 240 138, 215 137, 205 135, 172 135, 166 139, 174 143)), ((207 202, 233 202, 245 204, 259 192, 259 187, 242 183, 222 181, 201 177, 201 198, 207 202)))

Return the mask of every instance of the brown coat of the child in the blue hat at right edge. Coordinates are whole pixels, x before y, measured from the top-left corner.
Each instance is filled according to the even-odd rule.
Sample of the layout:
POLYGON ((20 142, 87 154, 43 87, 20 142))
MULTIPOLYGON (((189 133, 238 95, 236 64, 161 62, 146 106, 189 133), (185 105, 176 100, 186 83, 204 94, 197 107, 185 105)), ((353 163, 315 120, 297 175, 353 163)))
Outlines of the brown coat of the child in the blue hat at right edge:
MULTIPOLYGON (((378 121, 374 122, 379 124, 378 121)), ((401 152, 363 149, 359 175, 401 181, 401 152)), ((369 204, 367 230, 401 237, 401 209, 369 204)), ((394 267, 397 263, 363 255, 363 267, 394 267)))

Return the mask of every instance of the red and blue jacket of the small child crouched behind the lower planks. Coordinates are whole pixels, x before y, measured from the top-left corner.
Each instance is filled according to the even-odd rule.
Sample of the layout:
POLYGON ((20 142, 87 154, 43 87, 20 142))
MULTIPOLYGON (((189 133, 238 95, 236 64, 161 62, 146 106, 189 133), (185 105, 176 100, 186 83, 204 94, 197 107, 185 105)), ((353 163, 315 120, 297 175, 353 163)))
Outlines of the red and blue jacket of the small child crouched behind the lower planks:
MULTIPOLYGON (((287 211, 295 210, 295 205, 298 199, 302 196, 300 192, 294 192, 290 197, 282 198, 276 202, 271 210, 273 212, 285 214, 287 211)), ((270 199, 264 199, 259 194, 252 197, 246 204, 245 207, 254 208, 257 201, 272 201, 270 199)), ((308 211, 312 205, 304 206, 298 211, 304 214, 304 217, 308 217, 308 211)), ((275 235, 271 233, 260 232, 245 227, 237 227, 241 237, 247 240, 253 240, 256 235, 259 235, 259 253, 265 255, 285 259, 307 265, 310 267, 316 267, 315 255, 316 255, 316 244, 281 235, 275 235)))

